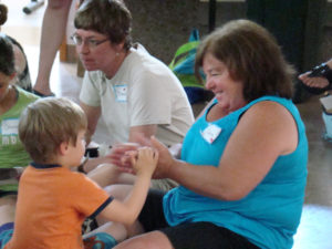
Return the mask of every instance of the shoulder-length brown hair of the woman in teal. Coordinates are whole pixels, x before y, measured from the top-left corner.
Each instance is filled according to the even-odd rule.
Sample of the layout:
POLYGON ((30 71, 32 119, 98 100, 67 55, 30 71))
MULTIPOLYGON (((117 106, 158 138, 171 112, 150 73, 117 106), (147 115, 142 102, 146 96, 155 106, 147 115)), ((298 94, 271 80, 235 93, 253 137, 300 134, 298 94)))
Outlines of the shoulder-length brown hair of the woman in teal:
POLYGON ((235 20, 209 34, 196 53, 195 74, 200 81, 207 53, 222 61, 234 80, 243 82, 246 101, 263 95, 291 98, 294 70, 284 60, 276 39, 259 24, 235 20))

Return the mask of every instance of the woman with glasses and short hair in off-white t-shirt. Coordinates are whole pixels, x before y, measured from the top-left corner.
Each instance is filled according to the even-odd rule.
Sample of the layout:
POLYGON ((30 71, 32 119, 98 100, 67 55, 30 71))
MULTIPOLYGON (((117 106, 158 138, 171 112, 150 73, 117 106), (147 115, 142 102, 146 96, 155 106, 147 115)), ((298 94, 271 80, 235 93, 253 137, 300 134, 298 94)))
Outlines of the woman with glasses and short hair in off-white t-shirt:
MULTIPOLYGON (((194 122, 187 95, 167 65, 143 45, 132 43, 132 14, 124 2, 85 0, 75 13, 74 25, 72 38, 86 70, 80 105, 89 122, 87 144, 100 117, 108 132, 104 135, 108 145, 139 143, 152 135, 167 146, 180 143, 194 122)), ((83 170, 102 163, 110 163, 110 157, 89 159, 83 170)), ((112 184, 135 180, 116 168, 107 175, 113 176, 112 184)), ((168 179, 152 183, 158 189, 176 185, 168 179)))

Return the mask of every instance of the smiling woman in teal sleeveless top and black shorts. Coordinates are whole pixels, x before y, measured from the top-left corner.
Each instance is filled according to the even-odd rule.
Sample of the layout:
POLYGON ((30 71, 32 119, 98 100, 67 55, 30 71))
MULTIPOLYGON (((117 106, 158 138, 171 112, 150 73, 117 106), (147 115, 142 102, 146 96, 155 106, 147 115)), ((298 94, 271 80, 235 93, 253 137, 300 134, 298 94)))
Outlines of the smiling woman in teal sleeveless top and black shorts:
POLYGON ((151 191, 128 228, 142 235, 115 248, 291 248, 308 162, 304 125, 290 100, 293 70, 271 34, 247 20, 209 34, 195 68, 216 100, 187 133, 181 160, 152 138, 155 177, 180 186, 151 191))

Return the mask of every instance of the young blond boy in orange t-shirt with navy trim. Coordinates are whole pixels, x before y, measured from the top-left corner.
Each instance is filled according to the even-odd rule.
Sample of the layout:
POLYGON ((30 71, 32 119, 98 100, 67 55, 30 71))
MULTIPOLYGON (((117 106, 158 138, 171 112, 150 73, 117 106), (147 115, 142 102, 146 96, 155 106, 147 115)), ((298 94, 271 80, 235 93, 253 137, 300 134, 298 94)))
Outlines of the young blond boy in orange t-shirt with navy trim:
MULTIPOLYGON (((81 226, 86 217, 101 215, 125 225, 137 218, 157 152, 145 147, 132 158, 137 180, 121 203, 83 174, 71 170, 82 160, 85 129, 84 112, 66 98, 42 98, 23 112, 19 135, 33 162, 20 179, 13 236, 6 249, 83 249, 81 226)), ((97 238, 104 240, 96 241, 103 246, 108 241, 103 248, 116 243, 111 235, 97 238)), ((86 248, 96 247, 90 241, 86 248)))

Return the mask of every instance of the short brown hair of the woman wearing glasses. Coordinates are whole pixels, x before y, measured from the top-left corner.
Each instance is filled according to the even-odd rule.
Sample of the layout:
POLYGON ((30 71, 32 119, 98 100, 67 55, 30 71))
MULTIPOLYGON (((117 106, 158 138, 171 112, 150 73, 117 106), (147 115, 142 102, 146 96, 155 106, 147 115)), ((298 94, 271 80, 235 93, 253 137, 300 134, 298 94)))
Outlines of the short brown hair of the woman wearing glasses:
POLYGON ((132 14, 121 0, 85 0, 75 13, 76 29, 106 34, 111 42, 132 46, 132 14))

